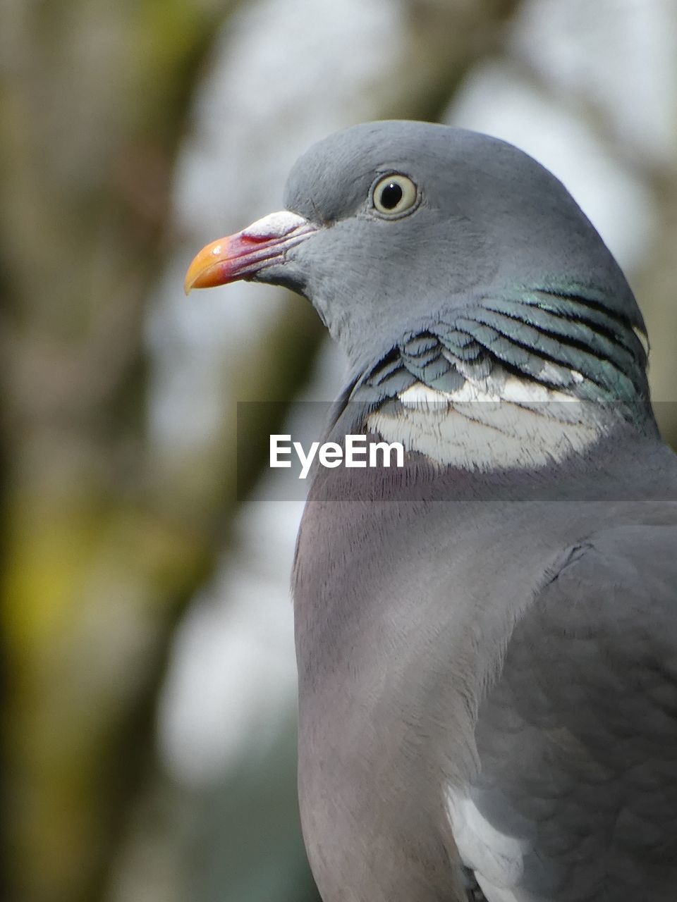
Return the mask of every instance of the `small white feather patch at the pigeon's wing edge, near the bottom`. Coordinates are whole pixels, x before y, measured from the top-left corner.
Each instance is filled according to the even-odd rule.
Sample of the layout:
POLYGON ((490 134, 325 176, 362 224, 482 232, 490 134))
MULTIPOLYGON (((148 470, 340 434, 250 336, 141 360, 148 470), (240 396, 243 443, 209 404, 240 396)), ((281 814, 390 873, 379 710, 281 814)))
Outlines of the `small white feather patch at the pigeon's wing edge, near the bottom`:
POLYGON ((530 844, 496 830, 468 796, 448 788, 447 814, 461 861, 475 872, 489 902, 517 902, 530 844))

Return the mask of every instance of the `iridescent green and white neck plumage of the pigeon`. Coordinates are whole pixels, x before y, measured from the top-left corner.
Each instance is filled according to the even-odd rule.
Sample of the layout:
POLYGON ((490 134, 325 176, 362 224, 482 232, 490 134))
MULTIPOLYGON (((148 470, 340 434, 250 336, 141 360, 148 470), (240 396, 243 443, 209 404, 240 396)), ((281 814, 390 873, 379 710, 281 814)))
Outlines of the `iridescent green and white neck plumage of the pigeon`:
POLYGON ((376 435, 441 465, 542 467, 619 420, 654 428, 642 338, 590 289, 520 290, 413 329, 349 398, 376 435))

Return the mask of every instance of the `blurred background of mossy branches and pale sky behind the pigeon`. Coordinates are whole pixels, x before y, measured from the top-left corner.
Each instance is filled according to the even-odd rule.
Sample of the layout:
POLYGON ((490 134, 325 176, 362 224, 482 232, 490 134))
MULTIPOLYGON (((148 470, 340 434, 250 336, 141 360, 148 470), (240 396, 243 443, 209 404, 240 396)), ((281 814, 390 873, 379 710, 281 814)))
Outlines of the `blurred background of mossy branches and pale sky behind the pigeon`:
POLYGON ((255 446, 343 362, 301 299, 183 273, 339 127, 496 134, 617 254, 674 444, 677 2, 4 0, 0 78, 0 896, 312 902, 301 503, 257 500, 236 401, 283 402, 255 446))

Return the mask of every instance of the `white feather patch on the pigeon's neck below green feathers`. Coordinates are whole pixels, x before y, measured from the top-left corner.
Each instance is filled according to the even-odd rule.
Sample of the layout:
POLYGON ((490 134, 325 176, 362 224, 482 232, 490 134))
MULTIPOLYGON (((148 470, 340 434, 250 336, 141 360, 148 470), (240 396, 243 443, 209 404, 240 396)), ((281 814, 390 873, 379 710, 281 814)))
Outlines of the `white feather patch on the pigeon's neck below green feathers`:
MULTIPOLYGON (((582 382, 572 372, 573 382, 582 382)), ((367 425, 443 465, 487 471, 559 463, 598 440, 589 405, 564 391, 513 375, 467 380, 456 391, 415 382, 396 410, 375 410, 367 425)))

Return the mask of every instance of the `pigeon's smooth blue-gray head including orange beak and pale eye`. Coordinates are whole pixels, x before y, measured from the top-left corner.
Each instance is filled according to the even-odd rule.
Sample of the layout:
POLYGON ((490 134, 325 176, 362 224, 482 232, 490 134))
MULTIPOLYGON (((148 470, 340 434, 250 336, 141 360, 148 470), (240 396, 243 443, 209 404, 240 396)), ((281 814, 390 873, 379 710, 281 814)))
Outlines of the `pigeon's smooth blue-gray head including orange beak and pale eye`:
MULTIPOLYGON (((186 290, 237 279, 287 286, 311 300, 357 371, 403 336, 525 292, 583 297, 644 333, 623 273, 569 192, 496 138, 360 124, 301 156, 284 203, 201 251, 186 290)), ((643 369, 638 341, 626 336, 643 369)))

